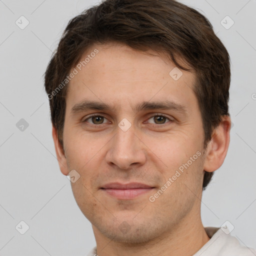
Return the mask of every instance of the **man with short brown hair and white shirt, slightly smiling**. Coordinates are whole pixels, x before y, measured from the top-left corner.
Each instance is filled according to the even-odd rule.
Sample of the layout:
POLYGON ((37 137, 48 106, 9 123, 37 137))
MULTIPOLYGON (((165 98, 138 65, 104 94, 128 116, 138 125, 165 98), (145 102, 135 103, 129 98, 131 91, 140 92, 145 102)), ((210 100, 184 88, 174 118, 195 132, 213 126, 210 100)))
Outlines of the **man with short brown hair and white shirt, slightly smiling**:
POLYGON ((229 84, 209 21, 177 1, 105 0, 69 21, 45 89, 89 255, 256 255, 200 217, 229 144, 229 84))

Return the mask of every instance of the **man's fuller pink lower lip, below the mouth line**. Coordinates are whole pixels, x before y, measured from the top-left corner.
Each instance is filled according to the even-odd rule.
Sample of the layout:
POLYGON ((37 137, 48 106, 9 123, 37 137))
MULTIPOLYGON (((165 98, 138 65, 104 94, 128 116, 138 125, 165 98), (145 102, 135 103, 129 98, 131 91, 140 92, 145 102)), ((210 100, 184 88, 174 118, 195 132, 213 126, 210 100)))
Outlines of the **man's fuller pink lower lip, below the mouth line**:
POLYGON ((132 188, 132 189, 103 188, 102 190, 117 199, 133 199, 141 194, 151 191, 152 188, 132 188))

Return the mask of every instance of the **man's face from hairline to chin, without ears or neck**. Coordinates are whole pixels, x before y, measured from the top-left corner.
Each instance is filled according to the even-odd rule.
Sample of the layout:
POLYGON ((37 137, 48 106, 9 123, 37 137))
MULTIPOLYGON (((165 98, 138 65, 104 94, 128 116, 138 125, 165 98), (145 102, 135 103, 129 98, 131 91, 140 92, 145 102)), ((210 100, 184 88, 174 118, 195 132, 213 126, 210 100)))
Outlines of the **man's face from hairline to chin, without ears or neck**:
POLYGON ((68 85, 63 128, 61 171, 80 175, 71 182, 79 208, 94 233, 116 241, 189 225, 199 214, 204 164, 194 73, 180 76, 163 55, 125 45, 94 48, 68 85))

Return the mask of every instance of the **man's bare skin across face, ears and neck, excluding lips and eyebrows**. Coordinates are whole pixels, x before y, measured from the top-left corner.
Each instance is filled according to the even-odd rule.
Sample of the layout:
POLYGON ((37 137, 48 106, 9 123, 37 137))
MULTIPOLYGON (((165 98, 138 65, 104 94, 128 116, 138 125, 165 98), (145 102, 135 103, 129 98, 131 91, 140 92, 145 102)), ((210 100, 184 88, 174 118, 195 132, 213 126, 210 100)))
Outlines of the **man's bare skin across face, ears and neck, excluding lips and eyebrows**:
POLYGON ((92 223, 97 254, 193 255, 209 240, 200 216, 203 170, 221 166, 230 119, 223 117, 204 150, 193 72, 182 70, 175 81, 169 75, 175 66, 164 55, 148 50, 155 54, 151 56, 114 42, 95 44, 91 51, 94 48, 99 53, 68 85, 64 148, 54 127, 52 135, 61 172, 67 175, 75 169, 80 175, 71 183, 72 191, 92 223), (111 109, 72 113, 83 100, 104 102, 111 109), (142 101, 165 100, 183 105, 186 114, 174 109, 133 110, 142 101), (99 117, 89 118, 92 113, 99 117), (159 115, 166 118, 159 121, 159 115), (126 131, 118 126, 123 118, 131 124, 126 131), (197 151, 201 155, 149 201, 197 151), (140 182, 154 188, 133 199, 117 199, 100 189, 108 182, 140 182))

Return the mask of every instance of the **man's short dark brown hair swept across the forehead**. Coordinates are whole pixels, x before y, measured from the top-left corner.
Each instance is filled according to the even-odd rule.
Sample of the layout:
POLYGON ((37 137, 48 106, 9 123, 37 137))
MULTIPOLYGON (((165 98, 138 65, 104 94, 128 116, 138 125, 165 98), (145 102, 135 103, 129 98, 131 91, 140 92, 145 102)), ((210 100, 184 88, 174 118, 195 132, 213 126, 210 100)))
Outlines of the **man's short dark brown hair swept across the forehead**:
MULTIPOLYGON (((109 41, 165 52, 178 68, 195 71, 193 90, 201 110, 205 148, 222 116, 229 115, 229 55, 208 19, 175 0, 104 0, 69 21, 44 76, 51 121, 62 146, 67 86, 56 88, 84 51, 109 41), (177 56, 188 67, 180 65, 177 56)), ((212 174, 205 171, 203 189, 212 174)))

